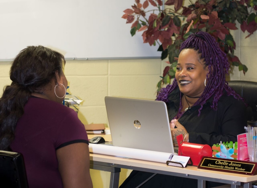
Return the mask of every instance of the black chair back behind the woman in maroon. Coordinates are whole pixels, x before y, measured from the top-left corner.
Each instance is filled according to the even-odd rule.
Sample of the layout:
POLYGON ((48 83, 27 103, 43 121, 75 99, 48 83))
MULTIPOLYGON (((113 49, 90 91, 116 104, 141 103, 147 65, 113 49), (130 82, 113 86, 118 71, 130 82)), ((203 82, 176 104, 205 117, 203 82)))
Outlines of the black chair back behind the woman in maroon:
POLYGON ((24 160, 21 153, 0 150, 0 187, 29 187, 24 160))

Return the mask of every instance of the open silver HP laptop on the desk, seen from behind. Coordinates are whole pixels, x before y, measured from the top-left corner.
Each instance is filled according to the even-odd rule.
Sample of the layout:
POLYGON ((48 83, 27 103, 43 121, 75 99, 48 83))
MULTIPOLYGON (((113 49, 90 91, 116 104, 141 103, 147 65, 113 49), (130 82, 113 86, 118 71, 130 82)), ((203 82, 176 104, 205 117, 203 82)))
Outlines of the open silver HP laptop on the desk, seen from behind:
POLYGON ((114 146, 174 153, 164 102, 106 96, 105 106, 114 146))

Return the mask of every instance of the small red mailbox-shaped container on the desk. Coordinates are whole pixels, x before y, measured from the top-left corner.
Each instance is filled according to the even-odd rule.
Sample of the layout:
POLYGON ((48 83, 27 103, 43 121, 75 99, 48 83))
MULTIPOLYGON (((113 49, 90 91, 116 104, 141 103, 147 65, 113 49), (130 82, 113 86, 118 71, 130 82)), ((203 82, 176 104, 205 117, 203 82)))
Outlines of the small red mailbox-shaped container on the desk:
POLYGON ((199 162, 204 156, 212 157, 212 148, 207 144, 195 144, 190 142, 185 142, 183 140, 183 135, 177 136, 178 141, 178 155, 190 157, 194 166, 198 166, 199 162), (182 138, 182 139, 181 139, 182 138))

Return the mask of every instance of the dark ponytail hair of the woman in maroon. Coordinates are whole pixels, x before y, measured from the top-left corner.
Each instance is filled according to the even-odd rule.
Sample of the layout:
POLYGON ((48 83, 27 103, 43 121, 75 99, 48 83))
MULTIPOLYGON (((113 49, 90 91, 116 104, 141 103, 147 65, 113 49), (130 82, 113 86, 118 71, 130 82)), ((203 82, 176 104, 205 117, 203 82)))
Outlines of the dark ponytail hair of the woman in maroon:
POLYGON ((10 79, 0 98, 0 150, 11 150, 17 121, 31 93, 42 93, 52 79, 63 72, 64 56, 43 46, 28 46, 14 59, 10 79))

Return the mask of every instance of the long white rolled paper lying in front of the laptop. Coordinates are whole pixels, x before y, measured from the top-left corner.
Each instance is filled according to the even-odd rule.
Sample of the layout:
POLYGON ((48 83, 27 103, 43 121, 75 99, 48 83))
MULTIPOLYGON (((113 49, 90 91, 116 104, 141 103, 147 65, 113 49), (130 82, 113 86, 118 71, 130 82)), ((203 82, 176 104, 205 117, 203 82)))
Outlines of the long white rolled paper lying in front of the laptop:
POLYGON ((104 155, 111 155, 116 157, 140 159, 155 162, 164 162, 170 160, 173 153, 165 153, 159 151, 140 150, 133 148, 123 148, 117 146, 103 145, 103 144, 91 144, 89 143, 90 153, 99 153, 104 155))

